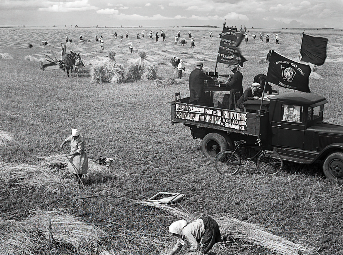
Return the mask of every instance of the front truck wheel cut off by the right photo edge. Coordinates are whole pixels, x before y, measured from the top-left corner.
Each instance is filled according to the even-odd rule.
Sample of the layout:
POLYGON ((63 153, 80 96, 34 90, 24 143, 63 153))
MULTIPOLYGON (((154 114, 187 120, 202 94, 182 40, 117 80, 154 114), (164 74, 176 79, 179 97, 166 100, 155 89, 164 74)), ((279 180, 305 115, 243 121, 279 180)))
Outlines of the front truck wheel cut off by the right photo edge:
POLYGON ((343 179, 343 153, 334 152, 324 161, 323 172, 326 178, 332 180, 343 179))

